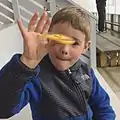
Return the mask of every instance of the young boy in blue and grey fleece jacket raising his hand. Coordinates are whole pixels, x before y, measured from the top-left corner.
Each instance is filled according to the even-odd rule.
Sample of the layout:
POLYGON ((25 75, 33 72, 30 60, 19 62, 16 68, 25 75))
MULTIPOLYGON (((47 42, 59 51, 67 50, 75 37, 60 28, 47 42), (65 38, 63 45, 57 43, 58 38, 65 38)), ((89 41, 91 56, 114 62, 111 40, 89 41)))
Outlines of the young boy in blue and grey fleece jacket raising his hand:
POLYGON ((90 44, 89 15, 74 6, 58 11, 52 21, 44 12, 35 27, 35 13, 26 30, 24 52, 16 54, 0 72, 0 118, 9 118, 30 103, 33 120, 115 120, 108 94, 94 71, 79 57, 90 44), (72 45, 40 37, 63 34, 72 45))

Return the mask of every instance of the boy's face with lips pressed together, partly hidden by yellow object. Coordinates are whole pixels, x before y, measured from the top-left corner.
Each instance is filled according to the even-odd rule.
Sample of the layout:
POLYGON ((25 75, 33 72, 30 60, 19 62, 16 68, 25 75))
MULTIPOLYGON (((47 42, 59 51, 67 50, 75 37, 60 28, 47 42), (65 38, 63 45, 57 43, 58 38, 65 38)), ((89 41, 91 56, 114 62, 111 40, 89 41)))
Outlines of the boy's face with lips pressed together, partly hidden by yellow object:
POLYGON ((85 42, 85 34, 74 29, 69 23, 55 24, 52 33, 63 34, 75 40, 73 45, 64 45, 55 41, 49 41, 48 53, 52 64, 60 71, 71 67, 89 47, 89 42, 85 42))

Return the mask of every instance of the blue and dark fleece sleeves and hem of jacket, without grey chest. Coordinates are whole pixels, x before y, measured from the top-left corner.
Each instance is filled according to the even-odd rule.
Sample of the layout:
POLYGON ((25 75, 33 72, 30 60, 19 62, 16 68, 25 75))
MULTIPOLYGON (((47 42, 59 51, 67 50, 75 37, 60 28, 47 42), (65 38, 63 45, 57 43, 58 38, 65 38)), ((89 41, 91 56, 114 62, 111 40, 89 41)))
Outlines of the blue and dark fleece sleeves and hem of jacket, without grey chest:
MULTIPOLYGON (((33 120, 53 120, 43 118, 38 108, 42 98, 40 67, 27 68, 15 55, 0 71, 0 118, 9 118, 30 103, 33 120)), ((92 92, 89 98, 88 118, 92 120, 115 120, 108 94, 100 86, 91 69, 92 92)), ((47 109, 47 108, 46 108, 47 109)), ((65 120, 86 120, 85 115, 69 117, 65 120)))

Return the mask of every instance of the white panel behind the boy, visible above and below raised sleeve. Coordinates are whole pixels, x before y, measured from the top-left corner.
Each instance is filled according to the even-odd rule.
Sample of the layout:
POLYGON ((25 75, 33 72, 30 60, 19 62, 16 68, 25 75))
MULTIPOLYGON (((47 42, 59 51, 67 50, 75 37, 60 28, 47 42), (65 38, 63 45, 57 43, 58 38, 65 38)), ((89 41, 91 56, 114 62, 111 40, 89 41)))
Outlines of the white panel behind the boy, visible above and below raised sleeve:
MULTIPOLYGON (((12 25, 0 31, 0 69, 11 59, 13 54, 21 53, 22 48, 23 40, 17 25, 12 25)), ((15 115, 9 120, 32 120, 29 105, 20 114, 15 115)))

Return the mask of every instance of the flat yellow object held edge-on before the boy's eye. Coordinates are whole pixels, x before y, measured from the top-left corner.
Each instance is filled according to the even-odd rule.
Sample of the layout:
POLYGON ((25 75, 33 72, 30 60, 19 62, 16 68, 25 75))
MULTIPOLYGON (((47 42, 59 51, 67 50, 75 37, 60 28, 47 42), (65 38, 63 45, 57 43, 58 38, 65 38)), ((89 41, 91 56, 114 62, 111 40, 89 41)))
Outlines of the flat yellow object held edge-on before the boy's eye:
POLYGON ((73 44, 74 43, 72 38, 62 35, 62 34, 40 34, 40 36, 45 37, 50 40, 55 40, 61 44, 73 44))

